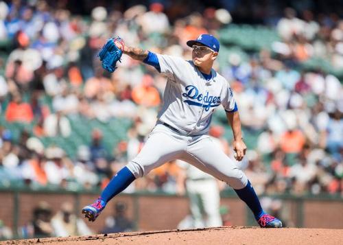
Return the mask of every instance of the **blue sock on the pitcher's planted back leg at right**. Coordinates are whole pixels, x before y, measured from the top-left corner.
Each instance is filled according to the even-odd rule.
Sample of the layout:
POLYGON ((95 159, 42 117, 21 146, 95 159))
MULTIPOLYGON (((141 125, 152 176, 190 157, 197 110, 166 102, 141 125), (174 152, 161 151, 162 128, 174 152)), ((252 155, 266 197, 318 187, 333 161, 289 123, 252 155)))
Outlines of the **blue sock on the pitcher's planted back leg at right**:
POLYGON ((246 205, 251 209, 252 213, 255 215, 255 219, 259 220, 261 216, 265 213, 261 207, 261 203, 259 202, 259 198, 257 197, 254 188, 250 181, 248 180, 248 184, 243 189, 235 189, 237 195, 241 200, 246 202, 246 205))

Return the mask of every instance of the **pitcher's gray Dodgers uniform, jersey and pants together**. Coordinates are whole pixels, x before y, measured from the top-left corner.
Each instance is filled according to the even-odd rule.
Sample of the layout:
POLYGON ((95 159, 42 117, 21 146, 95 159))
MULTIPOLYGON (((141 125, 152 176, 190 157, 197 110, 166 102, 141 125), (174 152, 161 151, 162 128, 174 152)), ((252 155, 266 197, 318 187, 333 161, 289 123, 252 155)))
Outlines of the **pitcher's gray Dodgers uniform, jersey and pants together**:
POLYGON ((217 106, 235 108, 233 92, 213 69, 206 80, 192 61, 157 54, 167 75, 163 107, 143 149, 127 167, 136 178, 168 161, 180 159, 226 182, 234 189, 248 183, 246 175, 211 141, 207 132, 217 106))

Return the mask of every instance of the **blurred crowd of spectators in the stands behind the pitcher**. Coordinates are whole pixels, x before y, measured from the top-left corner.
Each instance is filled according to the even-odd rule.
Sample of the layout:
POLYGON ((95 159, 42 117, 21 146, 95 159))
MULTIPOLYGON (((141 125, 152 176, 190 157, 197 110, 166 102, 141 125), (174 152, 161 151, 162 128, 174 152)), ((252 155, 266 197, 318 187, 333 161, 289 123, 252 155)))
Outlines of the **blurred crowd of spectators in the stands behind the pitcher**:
MULTIPOLYGON (((190 59, 187 40, 202 33, 217 36, 235 23, 224 8, 183 10, 184 16, 175 18, 171 10, 180 10, 178 1, 169 3, 168 11, 161 3, 120 11, 97 6, 90 16, 71 14, 62 3, 52 8, 44 0, 0 1, 4 186, 22 180, 32 188, 104 187, 141 150, 156 121, 166 79, 128 56, 114 73, 106 73, 96 56, 108 38, 118 35, 126 45, 190 59), (91 143, 80 143, 75 157, 58 143, 43 142, 73 140, 75 118, 103 124, 127 118, 132 127, 111 152, 100 128, 84 132, 91 143), (15 139, 9 125, 16 124, 31 130, 15 139)), ((285 8, 270 26, 281 37, 270 49, 244 51, 246 59, 229 53, 226 62, 215 63, 235 91, 244 137, 258 134, 257 147, 237 164, 259 194, 343 195, 342 78, 322 69, 299 69, 311 58, 343 68, 340 17, 285 8)), ((214 126, 213 137, 224 137, 223 127, 214 126)), ((126 191, 178 193, 180 172, 177 164, 167 163, 126 191)))

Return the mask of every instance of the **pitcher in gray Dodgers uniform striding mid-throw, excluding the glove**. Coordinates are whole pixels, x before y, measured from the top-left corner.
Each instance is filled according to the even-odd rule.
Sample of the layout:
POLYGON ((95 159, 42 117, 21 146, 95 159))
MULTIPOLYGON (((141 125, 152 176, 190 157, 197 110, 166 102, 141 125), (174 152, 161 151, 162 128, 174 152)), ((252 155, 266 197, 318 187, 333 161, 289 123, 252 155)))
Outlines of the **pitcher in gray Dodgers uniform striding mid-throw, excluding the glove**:
POLYGON ((94 221, 107 202, 136 178, 167 161, 181 159, 233 187, 261 227, 281 227, 280 220, 263 211, 246 175, 207 135, 213 112, 222 104, 233 130, 235 158, 238 161, 243 159, 246 145, 241 137, 233 91, 228 82, 212 69, 220 43, 214 36, 202 34, 196 40, 189 40, 187 45, 193 48, 189 61, 117 43, 124 54, 167 75, 164 103, 141 152, 113 177, 95 203, 82 209, 82 213, 94 221))

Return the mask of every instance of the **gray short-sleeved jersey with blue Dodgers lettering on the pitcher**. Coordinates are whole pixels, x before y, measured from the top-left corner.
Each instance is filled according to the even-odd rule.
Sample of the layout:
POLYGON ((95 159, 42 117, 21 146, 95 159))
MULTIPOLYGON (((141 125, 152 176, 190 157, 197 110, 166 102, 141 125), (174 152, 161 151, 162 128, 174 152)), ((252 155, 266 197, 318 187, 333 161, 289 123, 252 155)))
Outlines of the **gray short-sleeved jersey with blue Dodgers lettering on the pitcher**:
POLYGON ((192 61, 157 54, 161 73, 167 75, 163 107, 158 119, 186 135, 203 135, 209 131, 213 112, 222 104, 235 108, 230 85, 222 75, 211 70, 206 80, 192 61))

